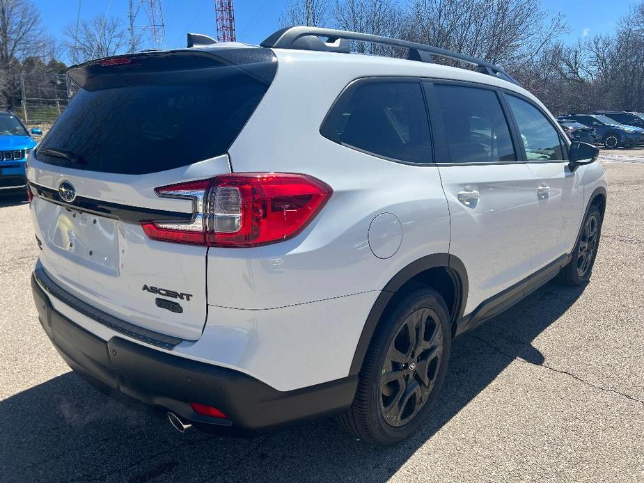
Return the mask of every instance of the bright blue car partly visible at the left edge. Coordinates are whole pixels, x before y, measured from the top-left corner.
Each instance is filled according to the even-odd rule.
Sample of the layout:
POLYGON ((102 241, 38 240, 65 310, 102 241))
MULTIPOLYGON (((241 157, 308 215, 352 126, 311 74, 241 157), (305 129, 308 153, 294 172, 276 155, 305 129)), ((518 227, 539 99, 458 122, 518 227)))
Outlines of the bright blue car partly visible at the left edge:
POLYGON ((0 111, 0 193, 26 187, 24 164, 37 144, 32 135, 41 136, 42 131, 31 129, 29 134, 13 112, 0 111))

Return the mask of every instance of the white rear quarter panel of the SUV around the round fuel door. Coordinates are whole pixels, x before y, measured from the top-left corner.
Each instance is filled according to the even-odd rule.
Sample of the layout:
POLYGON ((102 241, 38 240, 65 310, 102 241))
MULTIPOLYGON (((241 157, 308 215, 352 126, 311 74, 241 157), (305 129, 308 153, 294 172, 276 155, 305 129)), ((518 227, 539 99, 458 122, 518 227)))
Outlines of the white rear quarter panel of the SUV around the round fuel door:
POLYGON ((329 54, 276 49, 276 55, 275 81, 230 148, 233 171, 306 173, 329 184, 333 196, 293 239, 256 248, 210 248, 208 303, 276 308, 382 290, 407 264, 427 253, 446 253, 449 214, 436 166, 400 164, 319 133, 333 101, 361 74, 395 74, 411 64, 410 73, 418 75, 425 66, 391 59, 394 65, 383 69, 378 58, 350 56, 352 62, 344 63, 345 54, 338 54, 331 58, 340 68, 328 75, 320 59, 329 54), (296 88, 301 85, 315 88, 315 96, 296 88), (265 142, 253 141, 258 138, 265 142), (382 260, 369 248, 368 230, 385 212, 398 216, 403 234, 398 252, 382 260))

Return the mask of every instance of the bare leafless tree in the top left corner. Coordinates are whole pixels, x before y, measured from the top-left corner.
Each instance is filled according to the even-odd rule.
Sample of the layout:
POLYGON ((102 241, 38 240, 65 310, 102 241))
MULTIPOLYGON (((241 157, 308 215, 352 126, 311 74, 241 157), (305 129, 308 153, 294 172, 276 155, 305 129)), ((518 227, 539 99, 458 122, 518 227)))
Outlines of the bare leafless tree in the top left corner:
POLYGON ((21 61, 29 56, 51 58, 54 42, 29 0, 0 0, 0 91, 9 109, 19 104, 21 61))

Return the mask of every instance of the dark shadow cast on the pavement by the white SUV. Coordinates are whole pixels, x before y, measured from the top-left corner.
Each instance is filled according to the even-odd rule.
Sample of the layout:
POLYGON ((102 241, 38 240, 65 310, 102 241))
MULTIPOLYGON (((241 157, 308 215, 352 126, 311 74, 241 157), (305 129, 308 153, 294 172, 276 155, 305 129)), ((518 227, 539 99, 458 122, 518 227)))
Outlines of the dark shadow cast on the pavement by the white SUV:
POLYGON ((551 282, 455 340, 432 416, 392 447, 359 441, 332 420, 252 439, 180 435, 70 372, 0 402, 0 475, 7 482, 385 482, 512 361, 542 364, 531 342, 582 292, 551 282))

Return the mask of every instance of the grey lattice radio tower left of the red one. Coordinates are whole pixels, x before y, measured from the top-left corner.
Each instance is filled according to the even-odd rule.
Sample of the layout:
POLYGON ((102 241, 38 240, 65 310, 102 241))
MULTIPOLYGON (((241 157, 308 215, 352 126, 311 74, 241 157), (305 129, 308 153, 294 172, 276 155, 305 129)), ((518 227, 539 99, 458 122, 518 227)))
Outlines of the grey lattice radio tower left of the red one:
POLYGON ((143 38, 151 47, 166 48, 166 25, 161 0, 129 0, 129 50, 133 52, 143 38))

